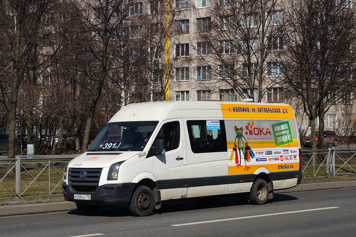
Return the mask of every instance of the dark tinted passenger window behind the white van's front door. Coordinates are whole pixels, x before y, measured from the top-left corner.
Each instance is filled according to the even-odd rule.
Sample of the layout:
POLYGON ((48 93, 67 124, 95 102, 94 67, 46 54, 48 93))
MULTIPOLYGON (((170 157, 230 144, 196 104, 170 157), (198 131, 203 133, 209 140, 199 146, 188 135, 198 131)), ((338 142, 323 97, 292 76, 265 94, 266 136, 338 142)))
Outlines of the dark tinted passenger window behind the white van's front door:
POLYGON ((206 129, 206 120, 188 120, 188 135, 193 153, 227 151, 224 120, 220 129, 206 129))

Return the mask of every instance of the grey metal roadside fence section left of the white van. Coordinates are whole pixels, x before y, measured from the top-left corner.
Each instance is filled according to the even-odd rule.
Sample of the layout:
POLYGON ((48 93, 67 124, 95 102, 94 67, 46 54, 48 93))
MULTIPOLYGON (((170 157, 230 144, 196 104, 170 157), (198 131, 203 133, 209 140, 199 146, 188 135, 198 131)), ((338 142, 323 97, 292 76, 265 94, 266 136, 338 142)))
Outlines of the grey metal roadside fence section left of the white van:
POLYGON ((43 195, 53 195, 61 188, 60 184, 63 182, 63 172, 58 171, 58 168, 64 168, 72 158, 74 157, 21 158, 16 156, 15 159, 0 158, 1 197, 12 195, 21 198, 24 194, 37 196, 38 194, 28 194, 29 189, 35 185, 40 187, 43 195), (21 180, 21 173, 22 176, 27 176, 27 182, 21 180), (9 195, 6 195, 7 193, 9 195))

